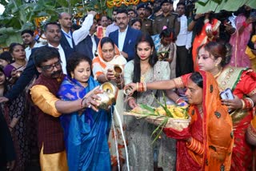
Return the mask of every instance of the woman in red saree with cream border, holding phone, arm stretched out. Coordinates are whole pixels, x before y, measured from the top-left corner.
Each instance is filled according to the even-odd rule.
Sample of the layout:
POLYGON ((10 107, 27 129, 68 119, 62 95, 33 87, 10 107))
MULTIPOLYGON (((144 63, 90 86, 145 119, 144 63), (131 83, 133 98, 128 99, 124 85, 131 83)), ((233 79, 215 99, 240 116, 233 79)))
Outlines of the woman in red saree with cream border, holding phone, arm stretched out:
MULTIPOLYGON (((256 104, 256 73, 247 68, 227 66, 230 62, 230 54, 230 46, 220 42, 209 42, 205 46, 200 46, 198 50, 198 66, 200 70, 209 71, 214 75, 220 92, 230 88, 234 94, 234 100, 222 100, 222 105, 230 109, 234 128, 230 170, 240 171, 252 167, 253 151, 246 141, 246 129, 253 118, 254 104, 256 104)), ((136 90, 136 85, 126 86, 132 86, 136 90)), ((173 89, 182 86, 181 78, 146 83, 146 89, 173 89)))

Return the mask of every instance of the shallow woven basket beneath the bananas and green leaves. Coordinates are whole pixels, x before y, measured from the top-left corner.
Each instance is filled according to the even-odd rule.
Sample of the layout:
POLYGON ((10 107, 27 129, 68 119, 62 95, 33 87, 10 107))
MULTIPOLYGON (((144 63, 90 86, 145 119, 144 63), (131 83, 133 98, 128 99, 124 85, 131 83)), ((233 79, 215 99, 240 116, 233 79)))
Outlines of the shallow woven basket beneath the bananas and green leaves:
MULTIPOLYGON (((154 124, 154 125, 161 125, 162 121, 166 118, 165 116, 148 116, 145 117, 143 114, 138 113, 127 113, 125 112, 124 115, 129 115, 137 118, 145 118, 146 121, 154 124)), ((182 129, 185 129, 190 125, 190 118, 189 119, 177 119, 177 118, 171 118, 168 117, 168 121, 165 125, 165 128, 172 128, 176 129, 178 131, 181 131, 182 129)))

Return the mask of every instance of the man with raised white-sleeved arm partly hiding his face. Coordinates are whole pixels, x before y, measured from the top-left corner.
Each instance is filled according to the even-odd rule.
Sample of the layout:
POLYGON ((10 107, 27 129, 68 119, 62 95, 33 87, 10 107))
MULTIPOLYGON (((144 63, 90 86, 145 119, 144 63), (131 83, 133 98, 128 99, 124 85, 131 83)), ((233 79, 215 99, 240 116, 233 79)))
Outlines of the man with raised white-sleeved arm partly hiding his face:
POLYGON ((97 30, 97 21, 94 19, 96 14, 93 10, 88 12, 85 21, 82 22, 82 27, 73 33, 75 50, 91 60, 95 57, 99 42, 98 37, 94 35, 97 30))

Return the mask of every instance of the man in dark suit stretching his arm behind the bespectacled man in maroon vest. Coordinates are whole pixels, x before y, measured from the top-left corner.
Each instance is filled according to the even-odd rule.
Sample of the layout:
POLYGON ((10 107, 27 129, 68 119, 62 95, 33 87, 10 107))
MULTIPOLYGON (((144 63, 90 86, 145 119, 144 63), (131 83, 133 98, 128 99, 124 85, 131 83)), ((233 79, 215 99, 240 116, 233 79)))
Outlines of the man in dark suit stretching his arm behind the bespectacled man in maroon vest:
MULTIPOLYGON (((44 27, 44 33, 48 42, 46 46, 51 46, 58 49, 62 59, 62 69, 65 68, 66 70, 66 58, 68 58, 69 55, 74 52, 74 50, 71 49, 70 46, 61 44, 60 40, 62 34, 60 26, 57 22, 46 23, 44 27)), ((37 48, 34 48, 31 54, 33 54, 36 49, 37 48)), ((65 73, 64 70, 63 73, 65 73)), ((30 81, 34 78, 35 75, 38 76, 38 71, 34 66, 33 59, 30 58, 27 62, 26 69, 22 72, 20 78, 18 78, 17 82, 15 82, 14 86, 6 93, 4 97, 0 97, 0 102, 12 101, 15 97, 18 97, 18 94, 26 88, 26 85, 30 84, 30 81)))

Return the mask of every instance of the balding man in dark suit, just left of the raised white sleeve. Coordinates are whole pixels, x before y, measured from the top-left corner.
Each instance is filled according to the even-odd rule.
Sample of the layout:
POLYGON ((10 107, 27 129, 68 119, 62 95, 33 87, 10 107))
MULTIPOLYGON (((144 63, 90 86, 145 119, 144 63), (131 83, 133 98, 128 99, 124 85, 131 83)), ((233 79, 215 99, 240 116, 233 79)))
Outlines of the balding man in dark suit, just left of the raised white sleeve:
POLYGON ((66 12, 58 14, 58 22, 62 27, 61 44, 65 46, 70 46, 70 48, 74 49, 74 40, 72 38, 71 32, 71 15, 66 12))

